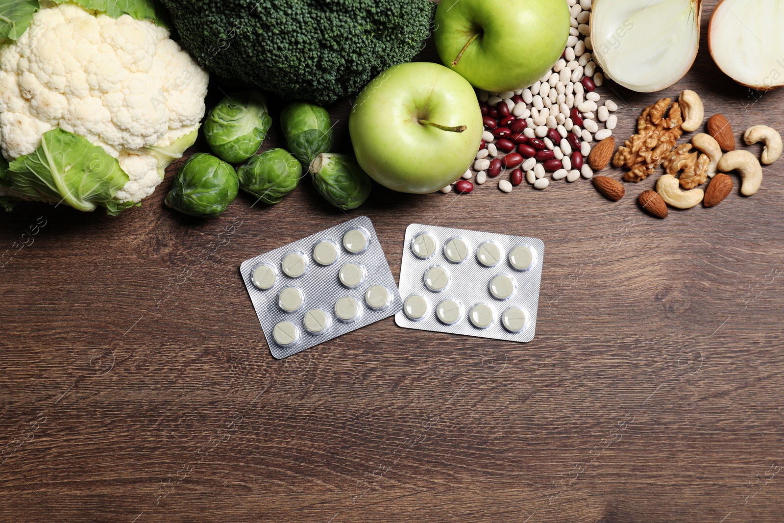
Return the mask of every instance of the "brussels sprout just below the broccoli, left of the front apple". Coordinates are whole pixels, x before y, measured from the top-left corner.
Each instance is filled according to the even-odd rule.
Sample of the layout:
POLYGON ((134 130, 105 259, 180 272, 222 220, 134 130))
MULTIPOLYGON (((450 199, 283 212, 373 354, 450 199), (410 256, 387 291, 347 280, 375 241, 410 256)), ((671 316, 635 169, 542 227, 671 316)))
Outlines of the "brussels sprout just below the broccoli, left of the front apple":
POLYGON ((281 111, 281 128, 289 151, 306 167, 332 149, 332 122, 324 107, 294 102, 281 111))

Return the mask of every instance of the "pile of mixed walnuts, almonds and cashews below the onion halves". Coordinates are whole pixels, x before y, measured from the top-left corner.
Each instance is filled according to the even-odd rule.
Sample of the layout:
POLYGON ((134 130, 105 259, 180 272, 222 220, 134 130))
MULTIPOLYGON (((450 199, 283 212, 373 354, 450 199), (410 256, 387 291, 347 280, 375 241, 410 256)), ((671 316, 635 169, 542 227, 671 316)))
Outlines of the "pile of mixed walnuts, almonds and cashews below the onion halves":
MULTIPOLYGON (((676 103, 670 106, 670 102, 670 98, 664 98, 645 107, 637 120, 637 134, 626 140, 613 158, 615 167, 630 169, 623 175, 627 182, 641 182, 660 165, 664 166, 666 174, 659 177, 656 190, 644 191, 638 197, 641 209, 657 218, 666 218, 668 205, 675 209, 691 209, 700 203, 705 207, 718 205, 732 191, 732 179, 724 174, 732 171, 741 177, 741 194, 755 194, 762 183, 762 165, 749 151, 735 150, 735 134, 728 119, 723 114, 714 114, 707 122, 707 134, 695 134, 690 143, 677 145, 684 131, 699 129, 705 109, 694 91, 685 90, 676 103), (703 191, 699 186, 709 178, 711 181, 703 191)), ((764 142, 761 156, 764 165, 775 162, 782 154, 781 135, 767 125, 746 129, 743 140, 747 145, 764 142)), ((610 153, 612 147, 604 156, 609 158, 610 153)), ((608 176, 594 177, 593 187, 613 202, 625 194, 622 184, 608 176)))

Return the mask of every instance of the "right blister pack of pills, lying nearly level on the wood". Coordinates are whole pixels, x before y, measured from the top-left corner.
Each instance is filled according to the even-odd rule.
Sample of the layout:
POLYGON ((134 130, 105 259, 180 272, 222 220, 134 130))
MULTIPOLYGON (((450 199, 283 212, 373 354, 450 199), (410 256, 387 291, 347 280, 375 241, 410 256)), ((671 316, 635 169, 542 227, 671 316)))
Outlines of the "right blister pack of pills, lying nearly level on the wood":
POLYGON ((395 321, 406 329, 529 342, 543 259, 539 238, 412 223, 395 321))

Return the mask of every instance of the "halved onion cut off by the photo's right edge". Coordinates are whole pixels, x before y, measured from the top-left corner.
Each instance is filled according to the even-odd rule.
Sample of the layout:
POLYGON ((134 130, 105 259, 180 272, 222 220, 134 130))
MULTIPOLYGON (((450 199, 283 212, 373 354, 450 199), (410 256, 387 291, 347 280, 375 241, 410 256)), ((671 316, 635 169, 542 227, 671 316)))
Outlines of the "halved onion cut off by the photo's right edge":
POLYGON ((724 0, 710 17, 710 56, 741 85, 778 89, 784 85, 782 28, 782 0, 724 0))

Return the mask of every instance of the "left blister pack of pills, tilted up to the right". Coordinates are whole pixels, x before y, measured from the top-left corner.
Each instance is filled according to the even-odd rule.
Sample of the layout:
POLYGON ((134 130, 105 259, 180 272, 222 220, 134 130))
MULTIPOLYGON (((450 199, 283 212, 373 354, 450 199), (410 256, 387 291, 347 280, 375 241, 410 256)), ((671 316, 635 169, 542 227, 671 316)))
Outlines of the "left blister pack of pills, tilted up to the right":
POLYGON ((286 358, 401 311, 387 257, 360 216, 240 266, 274 358, 286 358))

